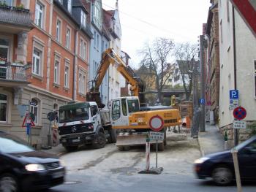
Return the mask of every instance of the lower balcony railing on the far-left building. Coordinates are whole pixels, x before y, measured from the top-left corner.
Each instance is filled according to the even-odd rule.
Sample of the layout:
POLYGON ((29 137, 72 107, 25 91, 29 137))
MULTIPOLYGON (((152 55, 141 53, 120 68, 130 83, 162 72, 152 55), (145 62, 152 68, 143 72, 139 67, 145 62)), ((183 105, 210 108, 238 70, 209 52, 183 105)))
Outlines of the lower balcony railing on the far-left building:
POLYGON ((0 81, 1 80, 16 80, 26 81, 29 77, 26 74, 26 70, 29 69, 29 65, 23 65, 18 63, 10 63, 0 61, 0 81))

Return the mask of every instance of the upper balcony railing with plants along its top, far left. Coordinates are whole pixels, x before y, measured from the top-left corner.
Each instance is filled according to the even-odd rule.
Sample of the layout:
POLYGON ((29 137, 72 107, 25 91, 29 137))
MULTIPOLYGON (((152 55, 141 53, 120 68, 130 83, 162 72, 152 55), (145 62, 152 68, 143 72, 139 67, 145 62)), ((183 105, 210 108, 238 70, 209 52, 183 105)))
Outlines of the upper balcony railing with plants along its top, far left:
POLYGON ((0 23, 31 27, 29 9, 1 5, 0 12, 0 23))

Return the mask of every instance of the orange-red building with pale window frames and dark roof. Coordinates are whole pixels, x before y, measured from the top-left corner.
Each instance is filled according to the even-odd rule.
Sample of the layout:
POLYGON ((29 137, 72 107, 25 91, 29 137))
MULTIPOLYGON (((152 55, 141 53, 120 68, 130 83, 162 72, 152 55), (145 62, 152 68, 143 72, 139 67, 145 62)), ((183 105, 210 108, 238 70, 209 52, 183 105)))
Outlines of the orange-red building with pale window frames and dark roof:
MULTIPOLYGON (((89 12, 78 1, 22 2, 30 9, 34 28, 27 39, 23 38, 25 42, 20 42, 26 50, 18 59, 31 63, 31 68, 29 85, 20 93, 19 105, 33 114, 31 145, 40 147, 48 143, 48 112, 57 111, 68 101, 86 101, 92 34, 86 21, 89 12)), ((23 118, 14 107, 12 113, 12 133, 25 139, 26 129, 20 128, 23 118)))

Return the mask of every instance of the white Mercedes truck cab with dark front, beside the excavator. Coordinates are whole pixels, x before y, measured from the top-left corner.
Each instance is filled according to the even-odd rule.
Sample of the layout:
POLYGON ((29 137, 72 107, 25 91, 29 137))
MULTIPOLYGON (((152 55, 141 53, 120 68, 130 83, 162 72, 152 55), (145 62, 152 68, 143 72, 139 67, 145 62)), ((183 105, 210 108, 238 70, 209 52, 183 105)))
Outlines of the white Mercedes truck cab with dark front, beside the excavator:
POLYGON ((79 145, 104 147, 106 134, 96 102, 73 102, 59 108, 60 142, 66 150, 79 145))

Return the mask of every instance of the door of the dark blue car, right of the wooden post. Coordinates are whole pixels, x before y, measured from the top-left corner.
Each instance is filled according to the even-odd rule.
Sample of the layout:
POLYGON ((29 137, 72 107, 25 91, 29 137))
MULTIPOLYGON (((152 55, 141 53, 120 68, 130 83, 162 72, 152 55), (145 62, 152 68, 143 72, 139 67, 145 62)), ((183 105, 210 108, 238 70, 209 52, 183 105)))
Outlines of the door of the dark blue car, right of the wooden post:
POLYGON ((243 147, 238 153, 241 177, 256 178, 256 140, 243 147))

